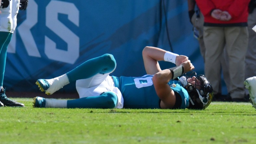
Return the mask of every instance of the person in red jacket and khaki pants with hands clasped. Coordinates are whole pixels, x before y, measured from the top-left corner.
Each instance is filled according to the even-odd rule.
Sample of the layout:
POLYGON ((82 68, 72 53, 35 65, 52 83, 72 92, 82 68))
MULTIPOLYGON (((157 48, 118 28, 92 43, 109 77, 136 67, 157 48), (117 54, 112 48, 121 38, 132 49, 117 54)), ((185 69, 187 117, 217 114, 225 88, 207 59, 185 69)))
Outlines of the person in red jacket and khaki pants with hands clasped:
POLYGON ((220 83, 221 55, 228 55, 230 97, 233 102, 246 102, 245 55, 248 46, 248 5, 250 0, 196 0, 204 16, 205 75, 211 81, 213 94, 220 83), (211 75, 211 77, 210 77, 211 75))

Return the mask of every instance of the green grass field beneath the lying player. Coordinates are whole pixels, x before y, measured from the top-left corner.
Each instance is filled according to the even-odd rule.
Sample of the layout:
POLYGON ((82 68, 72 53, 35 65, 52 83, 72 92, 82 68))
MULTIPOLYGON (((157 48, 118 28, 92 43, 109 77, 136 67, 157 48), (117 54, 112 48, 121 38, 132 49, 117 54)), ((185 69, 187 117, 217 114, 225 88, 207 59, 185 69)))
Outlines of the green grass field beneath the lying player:
POLYGON ((255 144, 251 103, 212 102, 206 110, 0 108, 1 144, 255 144))

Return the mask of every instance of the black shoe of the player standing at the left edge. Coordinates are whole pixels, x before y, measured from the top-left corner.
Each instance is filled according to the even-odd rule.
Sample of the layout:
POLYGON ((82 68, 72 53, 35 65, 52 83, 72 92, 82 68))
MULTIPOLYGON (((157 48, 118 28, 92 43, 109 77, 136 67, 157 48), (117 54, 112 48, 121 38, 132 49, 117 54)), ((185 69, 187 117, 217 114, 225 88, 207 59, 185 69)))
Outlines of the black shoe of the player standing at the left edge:
POLYGON ((13 101, 13 100, 7 98, 4 88, 2 88, 1 91, 0 91, 0 101, 5 106, 16 106, 16 107, 24 107, 25 106, 23 103, 16 102, 16 101, 13 101))

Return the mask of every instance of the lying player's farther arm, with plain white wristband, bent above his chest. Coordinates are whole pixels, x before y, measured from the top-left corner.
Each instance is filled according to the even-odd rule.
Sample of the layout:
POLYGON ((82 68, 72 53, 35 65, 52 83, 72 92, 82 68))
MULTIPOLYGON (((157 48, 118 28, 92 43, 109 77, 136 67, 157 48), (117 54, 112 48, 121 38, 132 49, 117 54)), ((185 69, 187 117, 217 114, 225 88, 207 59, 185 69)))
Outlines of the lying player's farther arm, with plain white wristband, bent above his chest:
POLYGON ((178 55, 166 50, 146 46, 142 51, 144 67, 147 74, 154 75, 157 72, 161 71, 158 61, 168 61, 179 66, 184 60, 188 59, 185 55, 178 55))

